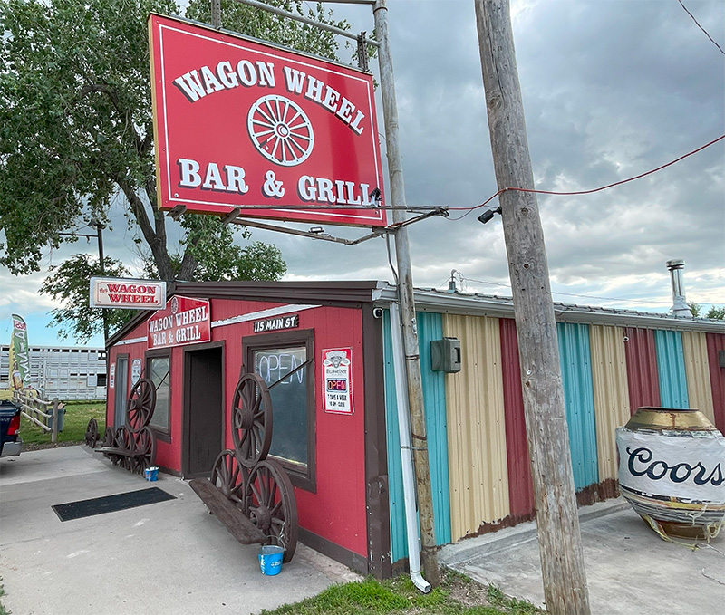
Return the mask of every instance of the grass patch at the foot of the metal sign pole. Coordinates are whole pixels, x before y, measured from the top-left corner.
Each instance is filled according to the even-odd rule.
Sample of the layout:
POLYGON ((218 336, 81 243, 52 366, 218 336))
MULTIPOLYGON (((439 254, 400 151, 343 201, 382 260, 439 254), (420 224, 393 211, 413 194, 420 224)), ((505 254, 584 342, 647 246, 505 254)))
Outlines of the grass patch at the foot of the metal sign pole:
POLYGON ((440 587, 420 593, 408 576, 387 581, 368 577, 333 585, 314 598, 285 604, 265 615, 535 615, 545 611, 509 598, 498 588, 485 587, 459 572, 441 574, 440 587))

